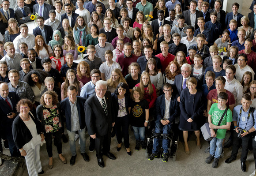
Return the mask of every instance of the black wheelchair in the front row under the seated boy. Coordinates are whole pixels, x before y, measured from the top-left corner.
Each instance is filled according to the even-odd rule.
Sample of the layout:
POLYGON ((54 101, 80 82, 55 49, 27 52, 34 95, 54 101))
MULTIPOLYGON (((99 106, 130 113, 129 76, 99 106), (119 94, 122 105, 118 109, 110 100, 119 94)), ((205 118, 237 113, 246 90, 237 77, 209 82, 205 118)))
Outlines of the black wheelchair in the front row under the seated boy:
MULTIPOLYGON (((151 122, 152 123, 152 122, 151 122)), ((169 139, 168 143, 168 152, 169 152, 169 157, 173 159, 173 161, 176 161, 177 157, 177 148, 178 148, 178 143, 179 143, 179 130, 178 130, 178 124, 173 123, 173 127, 170 130, 169 135, 164 135, 160 134, 156 135, 154 133, 154 125, 150 124, 148 127, 148 132, 147 132, 147 150, 145 151, 145 156, 148 158, 152 154, 153 150, 153 144, 154 144, 154 139, 160 137, 159 140, 159 145, 158 145, 158 157, 157 158, 162 158, 162 139, 167 138, 169 139)))

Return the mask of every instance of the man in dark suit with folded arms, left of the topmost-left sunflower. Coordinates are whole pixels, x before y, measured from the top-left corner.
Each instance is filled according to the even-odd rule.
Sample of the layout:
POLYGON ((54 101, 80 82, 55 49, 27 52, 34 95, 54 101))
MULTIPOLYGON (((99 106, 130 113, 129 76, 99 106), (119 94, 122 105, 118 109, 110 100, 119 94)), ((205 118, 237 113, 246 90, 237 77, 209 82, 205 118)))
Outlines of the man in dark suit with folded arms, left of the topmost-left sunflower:
POLYGON ((24 0, 18 0, 18 7, 14 10, 15 19, 19 26, 23 23, 32 21, 30 19, 31 11, 29 7, 24 6, 24 0))

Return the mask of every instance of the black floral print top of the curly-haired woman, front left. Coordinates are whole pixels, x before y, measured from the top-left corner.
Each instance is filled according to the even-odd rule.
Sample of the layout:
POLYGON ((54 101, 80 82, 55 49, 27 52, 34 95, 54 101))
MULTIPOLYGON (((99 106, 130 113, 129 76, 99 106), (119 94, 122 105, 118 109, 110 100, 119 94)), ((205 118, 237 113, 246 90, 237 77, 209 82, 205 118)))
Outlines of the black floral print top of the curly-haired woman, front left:
POLYGON ((52 108, 43 106, 44 124, 46 133, 53 133, 62 127, 60 122, 60 114, 56 105, 52 108))

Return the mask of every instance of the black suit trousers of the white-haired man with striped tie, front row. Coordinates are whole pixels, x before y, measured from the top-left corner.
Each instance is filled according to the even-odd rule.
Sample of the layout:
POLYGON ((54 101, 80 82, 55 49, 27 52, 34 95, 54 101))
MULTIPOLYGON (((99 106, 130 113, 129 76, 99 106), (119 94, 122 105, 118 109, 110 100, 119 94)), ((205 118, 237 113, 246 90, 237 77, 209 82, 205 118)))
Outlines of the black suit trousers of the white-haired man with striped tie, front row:
POLYGON ((111 144, 111 127, 109 127, 108 132, 104 136, 97 136, 95 139, 95 151, 96 156, 98 158, 102 158, 102 154, 107 154, 110 151, 110 144, 111 144))

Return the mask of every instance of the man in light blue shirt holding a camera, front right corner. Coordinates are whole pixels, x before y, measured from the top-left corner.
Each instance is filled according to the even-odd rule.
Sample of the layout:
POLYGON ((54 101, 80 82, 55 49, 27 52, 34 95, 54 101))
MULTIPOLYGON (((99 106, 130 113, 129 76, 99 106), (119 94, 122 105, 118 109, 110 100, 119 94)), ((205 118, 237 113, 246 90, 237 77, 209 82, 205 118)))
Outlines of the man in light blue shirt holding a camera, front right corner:
POLYGON ((250 133, 256 129, 256 124, 254 123, 256 121, 256 112, 250 107, 252 100, 249 94, 243 95, 241 103, 242 105, 237 105, 233 109, 233 124, 235 126, 233 133, 233 150, 231 157, 226 159, 225 163, 230 163, 237 158, 238 150, 242 144, 241 169, 245 172, 245 161, 248 154, 249 140, 251 139, 250 133))

